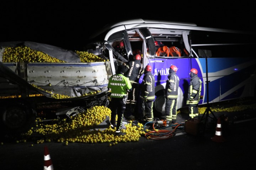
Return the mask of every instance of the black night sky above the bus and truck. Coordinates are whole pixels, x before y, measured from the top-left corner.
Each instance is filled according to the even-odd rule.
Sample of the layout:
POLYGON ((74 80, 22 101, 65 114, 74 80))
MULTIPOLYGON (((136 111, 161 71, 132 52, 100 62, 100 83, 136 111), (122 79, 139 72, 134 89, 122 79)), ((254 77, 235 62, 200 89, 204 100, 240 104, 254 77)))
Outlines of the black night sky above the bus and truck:
POLYGON ((106 24, 133 18, 254 31, 252 2, 8 1, 0 7, 0 42, 33 41, 76 50, 106 24))

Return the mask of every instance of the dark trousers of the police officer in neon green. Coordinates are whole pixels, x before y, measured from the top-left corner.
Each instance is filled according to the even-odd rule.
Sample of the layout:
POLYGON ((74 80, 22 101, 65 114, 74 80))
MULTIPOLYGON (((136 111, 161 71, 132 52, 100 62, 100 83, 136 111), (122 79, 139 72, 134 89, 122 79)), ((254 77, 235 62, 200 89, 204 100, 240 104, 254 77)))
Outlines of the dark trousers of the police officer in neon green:
POLYGON ((117 115, 117 127, 116 131, 121 130, 121 125, 123 122, 123 114, 126 109, 126 98, 111 98, 111 124, 116 124, 116 115, 117 115))

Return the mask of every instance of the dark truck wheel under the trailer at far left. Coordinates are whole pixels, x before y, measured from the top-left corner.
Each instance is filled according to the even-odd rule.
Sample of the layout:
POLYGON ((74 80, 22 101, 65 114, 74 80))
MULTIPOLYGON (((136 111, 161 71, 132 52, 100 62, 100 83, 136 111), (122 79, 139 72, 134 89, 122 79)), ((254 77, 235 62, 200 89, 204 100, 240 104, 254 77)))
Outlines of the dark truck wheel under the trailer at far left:
POLYGON ((1 124, 6 133, 22 133, 31 127, 34 118, 29 109, 21 106, 7 107, 1 113, 1 124))

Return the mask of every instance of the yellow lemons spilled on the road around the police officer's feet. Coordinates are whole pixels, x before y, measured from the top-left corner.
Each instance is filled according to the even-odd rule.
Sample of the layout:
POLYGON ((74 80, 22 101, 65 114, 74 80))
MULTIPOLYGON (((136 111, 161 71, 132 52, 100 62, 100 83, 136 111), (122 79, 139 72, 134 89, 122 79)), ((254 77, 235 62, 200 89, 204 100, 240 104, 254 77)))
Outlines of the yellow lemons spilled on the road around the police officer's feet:
POLYGON ((139 141, 141 135, 145 135, 143 124, 137 126, 132 125, 129 121, 125 129, 126 135, 115 136, 116 128, 111 127, 103 130, 95 130, 96 126, 102 123, 106 118, 111 118, 111 110, 105 106, 94 106, 87 109, 84 113, 80 113, 71 119, 54 119, 51 123, 45 124, 37 118, 34 128, 30 129, 25 134, 22 134, 22 139, 18 142, 33 140, 32 134, 39 134, 41 138, 34 141, 35 143, 43 143, 55 141, 67 145, 68 143, 105 143, 116 145, 118 142, 136 142, 139 141))

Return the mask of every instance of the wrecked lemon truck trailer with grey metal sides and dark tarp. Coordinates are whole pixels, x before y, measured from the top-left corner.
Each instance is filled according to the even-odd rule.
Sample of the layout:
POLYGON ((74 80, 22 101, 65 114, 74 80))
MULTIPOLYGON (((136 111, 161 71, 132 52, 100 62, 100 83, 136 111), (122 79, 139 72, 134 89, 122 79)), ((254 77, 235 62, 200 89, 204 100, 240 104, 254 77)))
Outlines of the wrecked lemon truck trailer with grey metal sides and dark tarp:
POLYGON ((107 84, 112 75, 109 61, 81 62, 74 51, 37 42, 7 42, 0 46, 1 130, 4 132, 23 132, 37 116, 70 117, 95 105, 108 106, 107 84), (3 62, 13 56, 13 51, 6 54, 7 48, 18 51, 20 47, 37 52, 38 58, 44 53, 62 62, 3 62))

